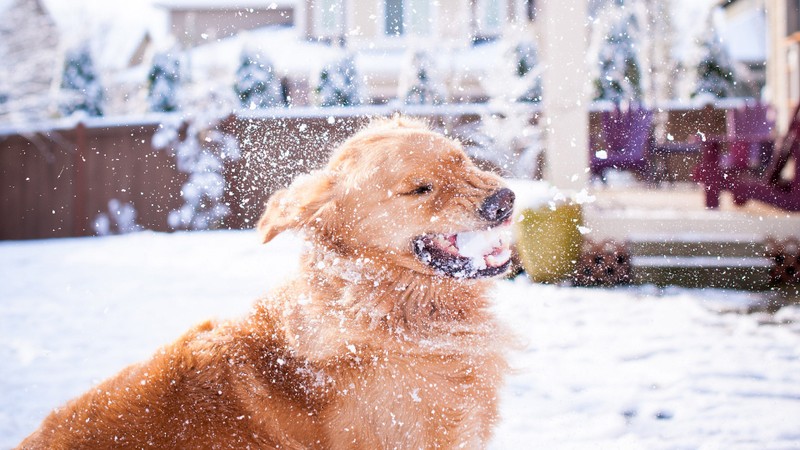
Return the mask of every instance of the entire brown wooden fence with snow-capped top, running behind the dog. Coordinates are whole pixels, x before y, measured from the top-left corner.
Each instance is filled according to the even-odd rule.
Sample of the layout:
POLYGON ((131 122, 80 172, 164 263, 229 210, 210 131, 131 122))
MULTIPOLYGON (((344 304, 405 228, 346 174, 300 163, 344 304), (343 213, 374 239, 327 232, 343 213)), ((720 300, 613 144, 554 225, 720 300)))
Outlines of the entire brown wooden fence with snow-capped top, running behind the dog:
MULTIPOLYGON (((486 111, 455 107, 434 114, 407 112, 446 127, 454 120, 476 120, 486 111)), ((230 213, 220 226, 254 226, 272 192, 298 173, 320 167, 333 146, 366 123, 367 117, 390 113, 386 107, 342 108, 295 111, 277 118, 244 113, 222 121, 218 128, 236 137, 241 156, 224 166, 223 203, 230 213)), ((667 130, 677 139, 700 128, 724 129, 724 111, 722 122, 717 110, 670 114, 667 130)), ((167 217, 183 205, 181 189, 188 175, 176 167, 174 148, 153 148, 162 119, 156 116, 139 123, 92 119, 50 128, 0 130, 0 239, 94 235, 97 218, 114 213, 109 210, 111 200, 131 204, 136 223, 144 228, 172 230, 167 217)))

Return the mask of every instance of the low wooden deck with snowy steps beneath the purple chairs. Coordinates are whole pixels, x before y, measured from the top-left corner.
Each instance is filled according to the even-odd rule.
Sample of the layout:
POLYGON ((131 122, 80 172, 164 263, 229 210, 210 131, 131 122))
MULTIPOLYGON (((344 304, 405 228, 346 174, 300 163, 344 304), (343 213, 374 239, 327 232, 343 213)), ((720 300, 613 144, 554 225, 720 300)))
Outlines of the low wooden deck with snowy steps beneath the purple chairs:
POLYGON ((770 239, 800 238, 800 213, 749 202, 737 207, 725 195, 719 209, 704 206, 691 184, 598 188, 584 206, 586 238, 625 243, 636 284, 784 290, 770 271, 770 239))

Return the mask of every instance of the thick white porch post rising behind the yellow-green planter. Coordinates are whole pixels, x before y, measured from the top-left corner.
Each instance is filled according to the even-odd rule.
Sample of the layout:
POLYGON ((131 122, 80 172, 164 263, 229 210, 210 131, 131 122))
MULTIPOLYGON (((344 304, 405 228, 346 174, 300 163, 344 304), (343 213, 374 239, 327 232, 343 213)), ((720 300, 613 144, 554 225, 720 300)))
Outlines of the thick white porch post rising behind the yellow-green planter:
POLYGON ((540 5, 544 178, 565 191, 579 191, 589 180, 587 0, 542 0, 540 5))

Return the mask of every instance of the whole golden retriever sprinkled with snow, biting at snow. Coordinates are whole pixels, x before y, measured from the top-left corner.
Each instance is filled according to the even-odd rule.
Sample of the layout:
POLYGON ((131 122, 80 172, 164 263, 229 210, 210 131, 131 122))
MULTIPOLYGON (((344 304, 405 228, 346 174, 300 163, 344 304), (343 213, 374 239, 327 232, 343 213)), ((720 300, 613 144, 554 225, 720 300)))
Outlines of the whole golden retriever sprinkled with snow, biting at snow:
POLYGON ((52 412, 25 449, 484 448, 507 371, 491 277, 514 194, 459 144, 374 120, 268 201, 299 271, 52 412))

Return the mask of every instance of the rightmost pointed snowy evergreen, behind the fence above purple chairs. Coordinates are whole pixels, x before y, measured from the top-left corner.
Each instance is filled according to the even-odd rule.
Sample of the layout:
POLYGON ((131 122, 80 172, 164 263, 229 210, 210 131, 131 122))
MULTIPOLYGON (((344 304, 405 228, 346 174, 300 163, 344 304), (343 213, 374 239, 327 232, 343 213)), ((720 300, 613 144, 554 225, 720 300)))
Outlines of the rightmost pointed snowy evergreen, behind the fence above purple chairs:
POLYGON ((700 38, 697 64, 697 83, 692 98, 710 94, 714 97, 730 97, 736 88, 736 76, 730 55, 711 23, 700 38))

